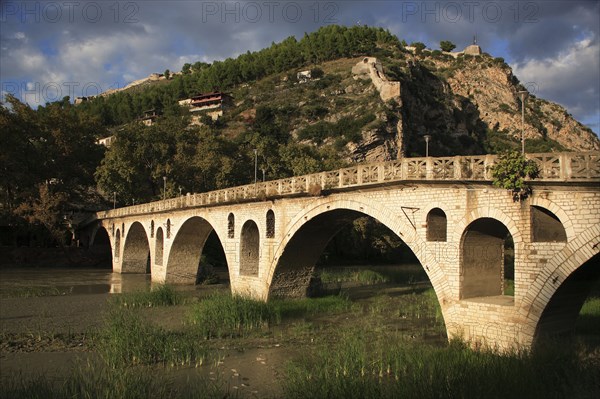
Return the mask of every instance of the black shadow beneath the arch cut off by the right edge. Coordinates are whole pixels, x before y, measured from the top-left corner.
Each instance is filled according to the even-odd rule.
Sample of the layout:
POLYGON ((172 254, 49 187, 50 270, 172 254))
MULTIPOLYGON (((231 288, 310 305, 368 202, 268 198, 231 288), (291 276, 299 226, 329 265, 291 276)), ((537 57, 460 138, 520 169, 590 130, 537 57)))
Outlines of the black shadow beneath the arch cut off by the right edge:
POLYGON ((537 323, 534 343, 572 334, 581 307, 599 280, 600 253, 597 253, 571 273, 554 292, 537 323))

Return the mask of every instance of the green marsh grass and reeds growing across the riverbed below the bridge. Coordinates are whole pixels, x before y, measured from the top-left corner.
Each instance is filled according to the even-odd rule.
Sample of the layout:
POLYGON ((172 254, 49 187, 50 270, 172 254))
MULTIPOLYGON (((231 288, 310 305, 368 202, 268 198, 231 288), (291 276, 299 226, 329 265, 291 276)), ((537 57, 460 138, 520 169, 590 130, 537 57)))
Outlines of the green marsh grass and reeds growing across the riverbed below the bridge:
MULTIPOLYGON (((352 278, 367 284, 390 276, 386 270, 371 271, 374 278, 371 273, 352 278)), ((407 276, 403 272, 398 278, 407 276)), ((435 292, 423 285, 354 302, 338 295, 264 303, 218 293, 186 303, 168 286, 117 298, 92 337, 101 362, 76 367, 60 382, 7 376, 0 383, 0 397, 231 397, 218 380, 195 375, 176 384, 169 370, 210 367, 220 359, 217 347, 243 350, 269 345, 276 336, 283 346, 305 348, 285 368, 286 398, 600 397, 598 343, 560 341, 508 354, 474 351, 458 341, 447 344, 435 292), (144 318, 150 312, 145 307, 177 303, 188 309, 189 323, 182 329, 165 330, 144 318), (211 342, 215 338, 227 341, 211 342)), ((594 294, 581 310, 578 333, 600 335, 599 317, 600 297, 594 294)))

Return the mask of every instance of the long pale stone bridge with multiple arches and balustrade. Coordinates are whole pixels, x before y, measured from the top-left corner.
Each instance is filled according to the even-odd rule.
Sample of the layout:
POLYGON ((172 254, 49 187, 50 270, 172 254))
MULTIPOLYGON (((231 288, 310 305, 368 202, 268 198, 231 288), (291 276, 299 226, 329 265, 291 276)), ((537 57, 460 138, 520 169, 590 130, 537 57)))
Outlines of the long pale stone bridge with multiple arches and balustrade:
POLYGON ((88 240, 108 238, 115 272, 193 284, 214 230, 232 292, 267 300, 306 295, 329 240, 367 215, 418 258, 449 337, 527 347, 572 330, 600 276, 600 152, 528 157, 541 176, 522 202, 492 185, 493 155, 405 158, 99 212, 88 240))

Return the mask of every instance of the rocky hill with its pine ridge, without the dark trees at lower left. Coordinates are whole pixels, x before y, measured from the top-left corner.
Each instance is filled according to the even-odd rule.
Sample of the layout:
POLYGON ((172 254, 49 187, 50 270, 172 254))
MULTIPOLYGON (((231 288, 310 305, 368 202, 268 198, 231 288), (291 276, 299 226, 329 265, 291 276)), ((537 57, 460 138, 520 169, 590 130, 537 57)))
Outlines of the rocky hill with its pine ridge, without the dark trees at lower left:
MULTIPOLYGON (((185 115, 178 100, 214 88, 234 98, 218 122, 233 142, 252 129, 262 107, 296 142, 330 148, 347 162, 424 155, 424 135, 434 156, 520 148, 517 93, 525 87, 503 59, 478 46, 458 53, 407 46, 380 28, 321 28, 235 60, 187 65, 170 81, 85 106, 107 124, 150 108, 185 115), (298 75, 303 71, 312 77, 298 75)), ((535 93, 525 103, 524 132, 528 152, 600 149, 589 128, 535 93)))

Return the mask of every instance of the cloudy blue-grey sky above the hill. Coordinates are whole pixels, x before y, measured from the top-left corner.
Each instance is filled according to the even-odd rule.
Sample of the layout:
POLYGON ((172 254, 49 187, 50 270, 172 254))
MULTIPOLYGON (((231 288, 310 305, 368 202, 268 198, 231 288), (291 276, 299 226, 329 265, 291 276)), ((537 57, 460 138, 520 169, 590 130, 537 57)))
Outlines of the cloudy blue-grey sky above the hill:
POLYGON ((503 57, 530 93, 600 131, 600 0, 0 0, 0 91, 32 106, 256 51, 320 26, 503 57))

